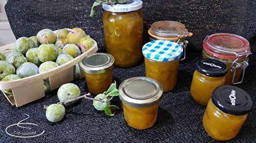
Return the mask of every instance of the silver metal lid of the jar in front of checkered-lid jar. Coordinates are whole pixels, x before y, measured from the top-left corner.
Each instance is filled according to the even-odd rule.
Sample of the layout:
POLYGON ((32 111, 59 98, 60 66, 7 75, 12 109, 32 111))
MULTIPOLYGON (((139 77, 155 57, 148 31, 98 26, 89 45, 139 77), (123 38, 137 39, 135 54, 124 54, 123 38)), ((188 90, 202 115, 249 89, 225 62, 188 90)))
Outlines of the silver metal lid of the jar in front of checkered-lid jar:
POLYGON ((149 77, 132 77, 119 86, 120 99, 132 107, 149 107, 162 97, 163 88, 155 79, 149 77))

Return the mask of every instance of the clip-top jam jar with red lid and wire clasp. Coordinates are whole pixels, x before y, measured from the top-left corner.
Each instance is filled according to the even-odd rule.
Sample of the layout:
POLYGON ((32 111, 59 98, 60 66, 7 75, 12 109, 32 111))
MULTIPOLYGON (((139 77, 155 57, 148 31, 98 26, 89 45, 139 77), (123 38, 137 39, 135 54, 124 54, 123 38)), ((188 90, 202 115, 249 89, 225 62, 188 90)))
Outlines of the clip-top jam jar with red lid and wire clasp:
POLYGON ((228 67, 225 84, 243 82, 248 56, 249 42, 238 35, 219 33, 207 36, 203 43, 203 58, 222 61, 228 67))

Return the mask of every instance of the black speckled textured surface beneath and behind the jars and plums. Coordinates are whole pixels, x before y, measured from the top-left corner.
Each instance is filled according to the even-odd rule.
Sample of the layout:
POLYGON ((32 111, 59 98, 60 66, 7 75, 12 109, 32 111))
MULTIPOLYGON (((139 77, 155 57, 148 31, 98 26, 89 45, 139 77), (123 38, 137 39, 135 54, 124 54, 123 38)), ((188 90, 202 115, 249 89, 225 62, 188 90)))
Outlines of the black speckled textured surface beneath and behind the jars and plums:
MULTIPOLYGON (((86 0, 9 0, 5 9, 16 38, 36 35, 42 28, 81 27, 98 42, 102 52, 102 10, 98 8, 98 14, 93 19, 89 18, 92 3, 86 0)), ((197 49, 189 50, 187 60, 181 62, 177 86, 173 91, 164 93, 157 122, 152 128, 140 131, 128 127, 118 98, 113 104, 121 109, 114 117, 106 117, 93 108, 91 101, 84 100, 66 114, 65 120, 52 124, 47 121, 43 106, 58 102, 56 90, 19 108, 11 106, 1 93, 0 142, 218 142, 203 129, 205 107, 198 105, 190 96, 195 63, 200 59, 203 39, 214 33, 241 35, 250 40, 255 50, 256 1, 148 0, 143 3, 145 32, 155 21, 179 21, 195 35, 189 39, 188 48, 197 49), (5 128, 24 119, 23 113, 31 116, 29 123, 38 124, 45 133, 34 138, 16 138, 6 134, 5 128)), ((238 87, 251 96, 254 105, 238 136, 226 142, 256 142, 256 55, 250 57, 249 64, 245 81, 238 87)), ((115 68, 114 79, 119 85, 124 79, 144 74, 142 62, 133 68, 115 68)), ((79 86, 82 94, 87 92, 85 79, 73 83, 79 86)))

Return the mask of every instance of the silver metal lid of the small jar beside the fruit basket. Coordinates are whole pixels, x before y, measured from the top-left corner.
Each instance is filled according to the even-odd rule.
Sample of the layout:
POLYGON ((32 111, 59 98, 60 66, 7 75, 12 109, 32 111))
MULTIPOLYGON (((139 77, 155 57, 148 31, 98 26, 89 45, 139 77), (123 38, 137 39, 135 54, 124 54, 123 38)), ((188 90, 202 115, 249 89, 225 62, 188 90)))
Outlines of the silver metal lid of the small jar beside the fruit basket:
POLYGON ((93 53, 87 55, 79 63, 80 69, 86 73, 105 73, 113 68, 115 59, 108 53, 93 53))

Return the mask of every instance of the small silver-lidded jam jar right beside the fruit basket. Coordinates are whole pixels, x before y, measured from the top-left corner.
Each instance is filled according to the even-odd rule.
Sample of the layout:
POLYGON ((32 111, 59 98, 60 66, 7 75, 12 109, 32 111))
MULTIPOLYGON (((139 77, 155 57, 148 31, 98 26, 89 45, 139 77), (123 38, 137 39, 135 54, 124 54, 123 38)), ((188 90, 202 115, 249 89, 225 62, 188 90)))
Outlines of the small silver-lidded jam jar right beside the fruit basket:
POLYGON ((94 53, 82 59, 79 66, 90 93, 97 95, 108 90, 113 80, 114 62, 114 57, 108 53, 94 53))

